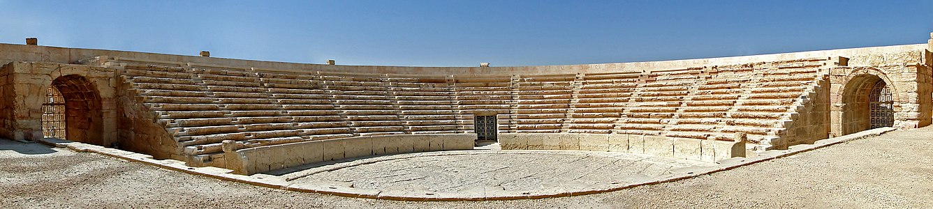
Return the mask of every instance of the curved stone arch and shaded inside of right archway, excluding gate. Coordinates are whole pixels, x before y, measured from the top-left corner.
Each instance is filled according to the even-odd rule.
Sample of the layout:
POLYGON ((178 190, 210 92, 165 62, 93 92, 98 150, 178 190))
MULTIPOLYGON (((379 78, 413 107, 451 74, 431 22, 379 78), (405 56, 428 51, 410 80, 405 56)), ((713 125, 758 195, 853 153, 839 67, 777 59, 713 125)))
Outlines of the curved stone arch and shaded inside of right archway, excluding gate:
MULTIPOLYGON (((870 101, 869 95, 873 87, 883 82, 885 88, 891 92, 894 106, 897 109, 900 97, 897 85, 884 72, 875 68, 863 67, 853 69, 842 85, 842 102, 840 131, 848 135, 870 128, 870 101)), ((896 111, 896 110, 895 110, 896 111)))

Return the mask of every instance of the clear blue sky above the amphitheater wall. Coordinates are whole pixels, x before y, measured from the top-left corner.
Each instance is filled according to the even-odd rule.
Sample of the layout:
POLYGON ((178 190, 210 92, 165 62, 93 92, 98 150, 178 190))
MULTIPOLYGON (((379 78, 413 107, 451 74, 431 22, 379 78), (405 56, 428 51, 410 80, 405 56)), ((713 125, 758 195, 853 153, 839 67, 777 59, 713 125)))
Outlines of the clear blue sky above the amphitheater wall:
POLYGON ((345 65, 563 65, 926 43, 914 1, 12 1, 0 43, 345 65))

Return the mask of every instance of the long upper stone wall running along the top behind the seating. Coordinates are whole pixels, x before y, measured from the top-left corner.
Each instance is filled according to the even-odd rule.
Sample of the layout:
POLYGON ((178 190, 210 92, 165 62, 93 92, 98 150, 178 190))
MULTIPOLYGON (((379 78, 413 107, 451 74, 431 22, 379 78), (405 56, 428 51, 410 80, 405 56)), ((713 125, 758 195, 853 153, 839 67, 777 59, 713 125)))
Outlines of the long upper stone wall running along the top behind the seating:
POLYGON ((220 59, 197 56, 180 56, 144 52, 116 50, 64 48, 54 46, 24 46, 0 44, 0 62, 9 61, 49 61, 59 63, 78 63, 94 57, 118 57, 137 61, 157 63, 200 63, 239 68, 286 69, 292 72, 363 72, 363 73, 401 73, 401 74, 560 74, 560 73, 595 73, 595 72, 642 72, 670 69, 687 69, 695 66, 732 65, 761 61, 846 57, 854 64, 880 65, 884 63, 926 63, 928 56, 924 51, 928 46, 876 46, 845 48, 820 51, 794 52, 771 55, 755 55, 714 59, 681 59, 667 61, 645 61, 584 65, 519 66, 519 67, 403 67, 403 66, 353 66, 302 64, 275 61, 245 59, 220 59))

